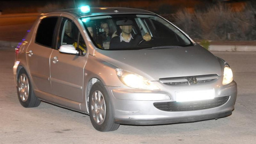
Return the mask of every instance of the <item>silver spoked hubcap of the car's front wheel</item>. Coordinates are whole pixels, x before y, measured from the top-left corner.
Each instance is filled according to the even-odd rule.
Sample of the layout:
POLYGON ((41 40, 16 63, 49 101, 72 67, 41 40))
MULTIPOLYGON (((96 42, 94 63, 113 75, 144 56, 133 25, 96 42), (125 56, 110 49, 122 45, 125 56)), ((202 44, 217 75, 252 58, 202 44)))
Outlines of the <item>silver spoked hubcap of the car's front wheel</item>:
POLYGON ((95 91, 92 94, 91 109, 94 122, 99 125, 102 124, 106 115, 106 104, 100 91, 95 91))

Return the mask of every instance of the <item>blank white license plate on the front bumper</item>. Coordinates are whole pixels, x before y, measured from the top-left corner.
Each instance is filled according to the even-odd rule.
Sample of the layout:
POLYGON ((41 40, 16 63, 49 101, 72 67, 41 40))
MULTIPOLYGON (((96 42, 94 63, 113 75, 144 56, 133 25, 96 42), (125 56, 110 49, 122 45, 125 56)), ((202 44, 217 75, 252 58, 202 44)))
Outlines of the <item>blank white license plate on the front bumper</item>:
POLYGON ((175 92, 175 99, 177 102, 210 100, 214 99, 214 97, 214 89, 175 92))

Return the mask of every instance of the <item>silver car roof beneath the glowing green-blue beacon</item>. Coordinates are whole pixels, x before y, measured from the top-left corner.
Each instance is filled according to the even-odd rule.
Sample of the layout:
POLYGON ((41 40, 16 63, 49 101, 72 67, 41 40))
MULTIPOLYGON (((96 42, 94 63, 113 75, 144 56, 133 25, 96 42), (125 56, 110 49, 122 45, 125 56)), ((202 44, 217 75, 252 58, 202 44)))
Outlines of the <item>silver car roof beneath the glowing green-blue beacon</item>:
POLYGON ((141 14, 155 14, 146 10, 132 9, 126 7, 90 7, 89 13, 82 13, 78 8, 57 10, 51 13, 70 13, 77 17, 89 17, 94 15, 106 15, 106 14, 129 14, 129 13, 141 13, 141 14))

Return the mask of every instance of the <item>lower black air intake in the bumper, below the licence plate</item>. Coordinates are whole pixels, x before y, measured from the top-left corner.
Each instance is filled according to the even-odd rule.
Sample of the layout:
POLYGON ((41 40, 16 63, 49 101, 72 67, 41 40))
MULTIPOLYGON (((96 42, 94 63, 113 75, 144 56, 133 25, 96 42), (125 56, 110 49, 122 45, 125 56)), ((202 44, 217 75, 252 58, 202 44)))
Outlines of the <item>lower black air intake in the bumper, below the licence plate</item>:
POLYGON ((192 111, 192 110, 202 110, 215 108, 223 105, 229 99, 229 96, 218 97, 212 100, 203 101, 191 101, 191 102, 155 102, 154 106, 163 111, 192 111))

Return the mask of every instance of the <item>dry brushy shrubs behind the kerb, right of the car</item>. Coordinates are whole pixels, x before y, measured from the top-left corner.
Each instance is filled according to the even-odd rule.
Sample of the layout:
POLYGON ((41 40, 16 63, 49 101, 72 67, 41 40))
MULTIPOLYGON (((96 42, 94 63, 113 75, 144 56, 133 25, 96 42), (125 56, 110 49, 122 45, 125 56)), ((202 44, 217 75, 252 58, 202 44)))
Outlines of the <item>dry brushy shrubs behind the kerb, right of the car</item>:
POLYGON ((195 13, 180 10, 174 23, 194 39, 246 41, 255 40, 255 20, 252 6, 237 12, 228 4, 217 4, 195 13))

